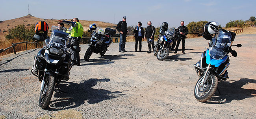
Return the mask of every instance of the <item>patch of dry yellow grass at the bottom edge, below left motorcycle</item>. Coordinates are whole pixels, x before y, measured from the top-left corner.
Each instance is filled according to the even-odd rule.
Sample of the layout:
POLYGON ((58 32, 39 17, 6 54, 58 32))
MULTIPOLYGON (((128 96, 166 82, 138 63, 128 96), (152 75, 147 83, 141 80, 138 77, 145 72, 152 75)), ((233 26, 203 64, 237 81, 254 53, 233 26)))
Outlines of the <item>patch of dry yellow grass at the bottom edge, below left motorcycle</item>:
POLYGON ((83 118, 83 115, 81 112, 69 109, 69 110, 61 110, 52 115, 44 115, 39 119, 82 119, 82 118, 83 118))

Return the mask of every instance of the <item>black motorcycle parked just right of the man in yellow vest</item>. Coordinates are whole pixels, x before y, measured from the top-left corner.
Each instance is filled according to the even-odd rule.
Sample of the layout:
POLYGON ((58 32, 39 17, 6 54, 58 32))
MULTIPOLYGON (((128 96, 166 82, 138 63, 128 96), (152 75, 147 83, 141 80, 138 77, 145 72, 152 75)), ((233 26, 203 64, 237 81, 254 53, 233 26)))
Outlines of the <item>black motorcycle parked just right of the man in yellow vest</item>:
POLYGON ((114 29, 106 28, 105 32, 103 29, 98 29, 98 32, 96 32, 96 30, 89 30, 89 32, 93 33, 91 35, 91 40, 89 41, 89 47, 84 54, 85 61, 89 60, 93 52, 96 54, 100 53, 100 56, 103 56, 111 43, 113 43, 111 37, 115 35, 116 31, 114 29))

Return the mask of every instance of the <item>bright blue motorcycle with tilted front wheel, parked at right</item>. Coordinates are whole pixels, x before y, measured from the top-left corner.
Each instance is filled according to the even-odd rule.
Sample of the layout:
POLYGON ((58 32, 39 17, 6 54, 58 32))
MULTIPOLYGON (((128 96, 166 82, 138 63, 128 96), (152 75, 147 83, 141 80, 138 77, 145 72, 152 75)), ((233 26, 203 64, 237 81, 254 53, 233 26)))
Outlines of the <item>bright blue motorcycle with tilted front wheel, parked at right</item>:
POLYGON ((202 53, 200 61, 194 65, 195 71, 200 77, 194 89, 194 95, 198 101, 209 100, 215 93, 218 83, 229 79, 227 69, 230 65, 230 56, 228 53, 230 52, 232 56, 236 57, 237 52, 231 47, 242 46, 241 44, 232 45, 235 36, 234 32, 219 29, 213 38, 206 38, 206 40, 211 40, 209 49, 202 53))

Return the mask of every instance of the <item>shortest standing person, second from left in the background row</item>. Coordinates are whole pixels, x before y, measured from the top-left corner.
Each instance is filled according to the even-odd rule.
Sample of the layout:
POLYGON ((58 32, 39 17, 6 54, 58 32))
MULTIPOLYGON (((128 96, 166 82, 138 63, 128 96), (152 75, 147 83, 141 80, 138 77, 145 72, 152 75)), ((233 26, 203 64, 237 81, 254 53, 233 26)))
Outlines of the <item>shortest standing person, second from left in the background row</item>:
POLYGON ((141 27, 142 23, 138 22, 138 26, 136 29, 134 29, 134 37, 135 37, 135 52, 137 52, 138 49, 138 41, 139 41, 139 52, 141 52, 141 41, 142 37, 144 36, 144 29, 141 27))

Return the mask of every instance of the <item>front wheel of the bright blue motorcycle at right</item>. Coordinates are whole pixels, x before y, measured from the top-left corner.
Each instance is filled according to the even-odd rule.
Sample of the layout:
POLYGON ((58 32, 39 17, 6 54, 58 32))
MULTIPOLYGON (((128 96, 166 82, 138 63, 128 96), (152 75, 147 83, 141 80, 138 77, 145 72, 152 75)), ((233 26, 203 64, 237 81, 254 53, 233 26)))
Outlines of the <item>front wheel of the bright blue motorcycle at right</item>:
POLYGON ((208 76, 206 83, 200 85, 200 82, 203 78, 204 76, 201 76, 201 78, 198 79, 194 89, 195 98, 200 102, 205 102, 209 100, 211 96, 213 96, 213 94, 215 93, 218 86, 218 79, 215 78, 213 74, 210 74, 208 76))

